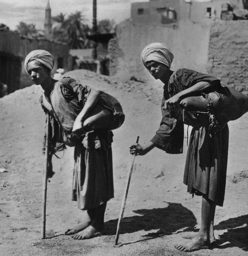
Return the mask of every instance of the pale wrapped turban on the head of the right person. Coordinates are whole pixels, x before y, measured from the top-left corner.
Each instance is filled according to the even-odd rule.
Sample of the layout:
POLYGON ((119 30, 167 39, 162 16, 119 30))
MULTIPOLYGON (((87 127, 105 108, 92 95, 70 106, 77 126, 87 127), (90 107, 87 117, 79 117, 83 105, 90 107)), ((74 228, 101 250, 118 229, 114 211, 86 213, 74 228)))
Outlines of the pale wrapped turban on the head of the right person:
POLYGON ((150 43, 141 52, 141 61, 145 67, 147 61, 157 61, 171 68, 173 58, 170 48, 164 43, 150 43))

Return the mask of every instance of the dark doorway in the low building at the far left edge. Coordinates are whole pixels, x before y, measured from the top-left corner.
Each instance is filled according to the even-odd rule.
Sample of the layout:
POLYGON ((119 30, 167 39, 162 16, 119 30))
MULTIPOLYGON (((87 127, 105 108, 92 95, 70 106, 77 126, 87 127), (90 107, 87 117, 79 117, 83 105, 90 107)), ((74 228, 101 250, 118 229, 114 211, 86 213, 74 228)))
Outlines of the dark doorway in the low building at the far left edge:
POLYGON ((8 93, 20 88, 21 58, 0 52, 0 81, 8 86, 8 93))

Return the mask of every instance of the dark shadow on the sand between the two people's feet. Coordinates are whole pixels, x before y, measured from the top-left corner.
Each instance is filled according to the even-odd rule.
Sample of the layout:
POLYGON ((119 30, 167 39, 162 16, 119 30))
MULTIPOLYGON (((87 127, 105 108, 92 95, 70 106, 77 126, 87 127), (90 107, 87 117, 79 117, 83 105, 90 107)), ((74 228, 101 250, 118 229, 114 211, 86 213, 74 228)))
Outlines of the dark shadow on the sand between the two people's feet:
MULTIPOLYGON (((119 234, 158 229, 157 232, 151 232, 143 236, 147 237, 143 240, 148 240, 163 235, 171 235, 187 227, 189 227, 190 231, 193 230, 193 227, 196 225, 194 214, 181 204, 172 202, 167 202, 167 204, 168 206, 166 208, 134 210, 134 213, 142 216, 135 215, 123 218, 120 224, 119 234)), ((117 222, 118 219, 105 223, 106 235, 115 235, 117 222)))

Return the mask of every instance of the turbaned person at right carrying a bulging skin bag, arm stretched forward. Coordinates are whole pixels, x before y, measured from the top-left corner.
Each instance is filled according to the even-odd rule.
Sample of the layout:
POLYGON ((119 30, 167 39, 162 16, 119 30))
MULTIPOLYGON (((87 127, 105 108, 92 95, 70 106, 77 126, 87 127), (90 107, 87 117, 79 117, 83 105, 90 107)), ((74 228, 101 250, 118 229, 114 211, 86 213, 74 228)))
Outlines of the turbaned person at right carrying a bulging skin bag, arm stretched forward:
POLYGON ((215 241, 215 206, 222 206, 224 201, 229 139, 227 121, 248 111, 248 97, 222 87, 214 76, 185 68, 172 71, 173 54, 163 43, 147 45, 141 60, 152 76, 164 83, 162 121, 150 142, 145 146, 131 145, 130 153, 145 155, 158 147, 169 154, 180 154, 183 152, 184 123, 193 126, 183 182, 190 194, 202 196, 202 223, 190 242, 175 247, 179 251, 208 248, 215 241), (210 96, 220 99, 222 108, 218 105, 214 109, 215 101, 212 102, 210 96), (230 104, 225 105, 225 102, 230 104), (236 115, 233 115, 234 106, 236 115), (225 114, 225 108, 229 116, 225 114), (216 114, 221 120, 216 119, 216 114), (224 119, 225 116, 229 119, 224 119))

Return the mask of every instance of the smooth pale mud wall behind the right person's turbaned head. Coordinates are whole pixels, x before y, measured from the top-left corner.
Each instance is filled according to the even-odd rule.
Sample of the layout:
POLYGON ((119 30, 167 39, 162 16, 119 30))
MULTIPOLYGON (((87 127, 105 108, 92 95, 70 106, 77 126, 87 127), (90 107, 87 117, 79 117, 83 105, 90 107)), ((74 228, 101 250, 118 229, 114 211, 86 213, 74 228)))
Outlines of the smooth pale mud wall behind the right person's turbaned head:
POLYGON ((153 42, 169 45, 174 54, 172 70, 185 67, 206 72, 209 34, 210 21, 184 20, 170 25, 122 22, 117 28, 119 47, 124 52, 124 58, 119 60, 119 75, 154 81, 140 60, 142 49, 153 42))

